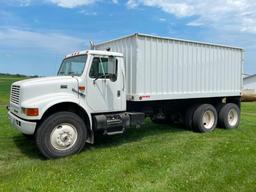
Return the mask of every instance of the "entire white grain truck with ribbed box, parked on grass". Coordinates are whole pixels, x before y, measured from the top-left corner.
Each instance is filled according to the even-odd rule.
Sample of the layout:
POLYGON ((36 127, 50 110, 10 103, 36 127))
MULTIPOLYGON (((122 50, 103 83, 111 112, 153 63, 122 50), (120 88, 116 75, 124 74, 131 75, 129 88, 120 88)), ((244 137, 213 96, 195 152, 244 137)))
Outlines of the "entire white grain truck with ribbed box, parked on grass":
POLYGON ((56 77, 12 84, 9 118, 58 158, 143 124, 183 120, 198 132, 240 122, 243 49, 134 34, 67 55, 56 77))

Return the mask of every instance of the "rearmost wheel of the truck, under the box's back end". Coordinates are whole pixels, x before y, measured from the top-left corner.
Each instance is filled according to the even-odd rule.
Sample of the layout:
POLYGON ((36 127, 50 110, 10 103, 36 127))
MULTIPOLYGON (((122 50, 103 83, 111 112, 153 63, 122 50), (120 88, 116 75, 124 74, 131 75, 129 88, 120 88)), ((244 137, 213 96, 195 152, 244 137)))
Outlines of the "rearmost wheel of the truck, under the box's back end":
POLYGON ((222 106, 219 111, 219 125, 225 129, 235 129, 240 124, 240 109, 234 103, 222 106))

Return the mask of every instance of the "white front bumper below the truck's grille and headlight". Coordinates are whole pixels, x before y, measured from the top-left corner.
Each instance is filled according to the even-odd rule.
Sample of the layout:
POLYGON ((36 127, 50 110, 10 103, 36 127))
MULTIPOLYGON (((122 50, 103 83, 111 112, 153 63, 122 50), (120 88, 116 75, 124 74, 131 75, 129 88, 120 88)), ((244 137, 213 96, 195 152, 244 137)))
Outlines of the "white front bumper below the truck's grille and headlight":
POLYGON ((24 134, 33 135, 36 130, 36 122, 25 121, 19 117, 13 115, 10 111, 8 112, 8 118, 11 121, 13 127, 18 129, 24 134))

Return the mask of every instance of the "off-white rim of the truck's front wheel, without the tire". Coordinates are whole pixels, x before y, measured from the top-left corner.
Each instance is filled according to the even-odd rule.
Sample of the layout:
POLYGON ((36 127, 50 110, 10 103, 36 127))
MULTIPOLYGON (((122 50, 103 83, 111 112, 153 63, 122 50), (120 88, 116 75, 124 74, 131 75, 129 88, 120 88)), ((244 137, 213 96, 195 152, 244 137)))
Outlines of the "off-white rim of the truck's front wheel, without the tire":
POLYGON ((56 126, 50 136, 51 145, 57 150, 67 150, 74 146, 77 140, 76 128, 68 123, 56 126))

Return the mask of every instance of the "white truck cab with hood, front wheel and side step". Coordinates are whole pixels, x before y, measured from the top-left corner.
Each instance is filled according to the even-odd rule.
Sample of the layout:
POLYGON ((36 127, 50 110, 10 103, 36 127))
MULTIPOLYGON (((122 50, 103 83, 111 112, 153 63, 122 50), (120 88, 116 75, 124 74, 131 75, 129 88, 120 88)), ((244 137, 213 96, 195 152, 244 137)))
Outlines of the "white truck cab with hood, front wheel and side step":
POLYGON ((93 143, 94 129, 122 133, 125 111, 123 55, 86 50, 67 55, 55 77, 13 83, 8 114, 14 127, 35 135, 43 155, 55 158, 93 143))

